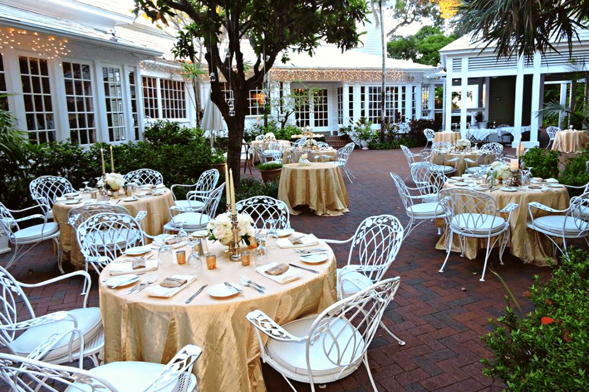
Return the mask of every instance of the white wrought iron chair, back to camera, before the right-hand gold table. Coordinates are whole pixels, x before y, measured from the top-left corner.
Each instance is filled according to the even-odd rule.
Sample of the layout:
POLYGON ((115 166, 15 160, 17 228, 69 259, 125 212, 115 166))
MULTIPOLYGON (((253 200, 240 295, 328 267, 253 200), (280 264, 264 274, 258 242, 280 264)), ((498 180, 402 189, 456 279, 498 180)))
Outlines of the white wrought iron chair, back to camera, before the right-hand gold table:
POLYGON ((491 250, 501 239, 499 246, 499 262, 503 264, 503 252, 509 240, 509 220, 511 214, 518 205, 509 203, 503 209, 498 210, 495 199, 487 193, 477 192, 471 189, 442 189, 439 199, 446 213, 446 259, 439 269, 444 272, 448 257, 452 250, 452 237, 459 236, 461 244, 461 256, 464 256, 466 238, 487 239, 487 252, 485 264, 482 269, 481 282, 485 282, 485 272, 491 250), (499 213, 508 214, 507 219, 499 216, 499 213))

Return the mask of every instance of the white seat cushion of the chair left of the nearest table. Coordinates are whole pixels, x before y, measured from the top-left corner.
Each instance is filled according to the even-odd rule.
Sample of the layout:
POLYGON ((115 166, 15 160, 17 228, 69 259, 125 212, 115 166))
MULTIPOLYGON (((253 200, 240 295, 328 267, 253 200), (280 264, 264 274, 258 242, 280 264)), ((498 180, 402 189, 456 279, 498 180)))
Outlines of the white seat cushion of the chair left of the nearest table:
MULTIPOLYGON (((78 320, 78 329, 82 331, 84 335, 84 341, 90 341, 97 333, 102 330, 102 320, 100 318, 100 309, 97 307, 87 307, 81 309, 68 310, 69 314, 72 314, 78 320)), ((54 323, 44 324, 36 327, 30 327, 25 330, 19 337, 12 341, 11 347, 15 351, 16 355, 26 357, 31 353, 39 344, 47 340, 54 333, 64 333, 67 330, 74 328, 74 321, 72 320, 59 320, 54 323)), ((45 360, 51 361, 52 359, 59 358, 68 354, 69 344, 71 335, 68 334, 63 337, 58 343, 55 344, 55 348, 49 351, 45 360)), ((80 340, 76 339, 73 344, 74 351, 80 347, 80 340)))

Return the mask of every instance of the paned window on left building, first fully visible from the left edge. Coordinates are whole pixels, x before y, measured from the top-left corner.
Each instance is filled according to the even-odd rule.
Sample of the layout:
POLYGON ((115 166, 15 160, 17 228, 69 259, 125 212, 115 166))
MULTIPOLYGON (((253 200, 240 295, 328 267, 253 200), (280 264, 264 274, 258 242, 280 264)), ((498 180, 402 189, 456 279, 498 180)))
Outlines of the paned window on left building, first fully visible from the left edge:
POLYGON ((18 56, 18 64, 29 140, 32 143, 52 142, 55 140, 55 115, 47 60, 18 56))

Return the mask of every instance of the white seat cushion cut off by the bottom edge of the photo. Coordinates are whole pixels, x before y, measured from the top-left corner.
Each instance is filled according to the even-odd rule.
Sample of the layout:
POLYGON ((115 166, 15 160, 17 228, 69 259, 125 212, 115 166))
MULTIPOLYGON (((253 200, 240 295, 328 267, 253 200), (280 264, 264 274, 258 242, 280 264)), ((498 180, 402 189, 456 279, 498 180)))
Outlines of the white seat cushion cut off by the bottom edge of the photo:
MULTIPOLYGON (((90 369, 90 373, 104 378, 120 392, 142 392, 151 384, 155 376, 164 370, 164 367, 166 365, 149 362, 111 362, 90 369)), ((196 377, 194 377, 194 374, 190 374, 190 381, 186 390, 193 390, 195 383, 196 377)), ((166 388, 157 391, 171 392, 176 384, 173 381, 166 388)), ((79 388, 80 391, 94 392, 92 387, 85 384, 74 383, 74 386, 79 388)), ((73 389, 78 391, 78 389, 73 389)))

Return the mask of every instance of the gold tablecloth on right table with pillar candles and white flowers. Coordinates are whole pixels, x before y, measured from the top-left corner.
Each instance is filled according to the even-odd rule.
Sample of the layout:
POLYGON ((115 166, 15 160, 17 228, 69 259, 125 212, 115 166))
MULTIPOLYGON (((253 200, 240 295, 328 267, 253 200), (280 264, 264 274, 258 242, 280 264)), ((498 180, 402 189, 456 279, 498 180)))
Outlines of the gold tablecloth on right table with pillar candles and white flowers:
MULTIPOLYGON (((444 184, 444 188, 452 187, 451 184, 444 184)), ((497 189, 497 188, 495 188, 497 189)), ((488 192, 488 191, 487 191, 488 192)), ((485 192, 485 193, 487 193, 485 192)), ((552 207, 554 209, 565 209, 568 207, 568 191, 565 187, 551 188, 546 192, 538 190, 518 190, 517 192, 505 192, 503 190, 494 190, 490 195, 497 203, 497 209, 502 209, 509 203, 517 203, 519 207, 514 210, 509 222, 509 229, 511 232, 511 239, 509 239, 509 252, 525 263, 532 263, 537 266, 548 265, 547 259, 554 260, 552 257, 552 243, 542 233, 535 230, 528 229, 526 222, 528 221, 528 203, 538 202, 552 207)), ((547 215, 547 212, 536 210, 537 216, 547 215)), ((507 214, 502 214, 502 217, 507 219, 507 214)), ((445 250, 445 233, 442 234, 436 249, 445 250)), ((497 245, 498 246, 498 245, 497 245)), ((468 259, 475 259, 477 257, 477 250, 486 249, 487 239, 466 239, 465 256, 468 259)), ((455 235, 452 239, 452 251, 460 252, 460 244, 458 236, 455 235)))

